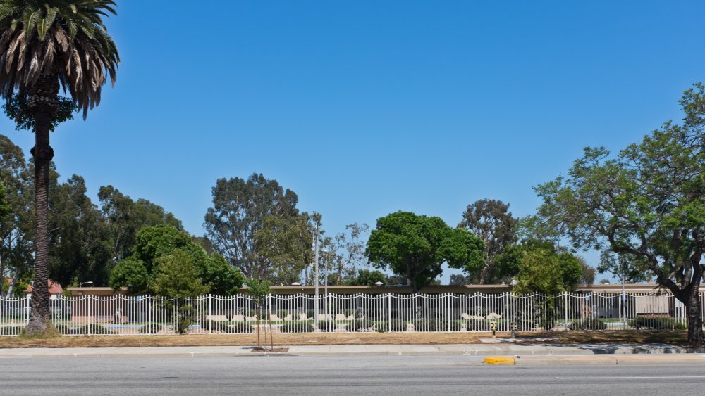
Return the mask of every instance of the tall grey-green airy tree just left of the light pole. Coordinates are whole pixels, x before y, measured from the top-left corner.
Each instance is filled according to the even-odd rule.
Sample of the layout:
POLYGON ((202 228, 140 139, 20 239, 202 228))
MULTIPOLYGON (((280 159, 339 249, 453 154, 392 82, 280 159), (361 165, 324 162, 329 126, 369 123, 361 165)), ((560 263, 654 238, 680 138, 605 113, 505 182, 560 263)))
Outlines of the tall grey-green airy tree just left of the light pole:
POLYGON ((298 197, 293 191, 285 191, 262 174, 252 174, 247 180, 218 179, 212 192, 213 207, 204 222, 207 236, 216 251, 248 279, 269 279, 282 265, 292 264, 283 260, 287 257, 295 257, 295 265, 300 263, 300 247, 310 246, 312 233, 302 232, 300 216, 306 215, 296 208, 298 197), (279 238, 278 227, 295 240, 279 238), (257 247, 263 245, 266 249, 260 253, 257 247))

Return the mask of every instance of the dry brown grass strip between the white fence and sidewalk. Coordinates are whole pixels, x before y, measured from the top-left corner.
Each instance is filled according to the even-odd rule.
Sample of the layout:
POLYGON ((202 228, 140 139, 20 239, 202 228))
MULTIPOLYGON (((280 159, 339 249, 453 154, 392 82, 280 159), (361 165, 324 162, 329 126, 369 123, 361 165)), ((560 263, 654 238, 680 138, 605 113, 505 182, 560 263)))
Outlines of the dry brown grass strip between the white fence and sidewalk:
MULTIPOLYGON (((472 344, 490 333, 274 333, 274 345, 370 345, 370 344, 472 344)), ((500 338, 508 337, 498 332, 500 338)), ((687 345, 685 331, 544 331, 519 333, 519 343, 668 343, 687 345)), ((267 336, 269 344, 269 335, 267 336)), ((173 347, 257 345, 257 334, 210 334, 188 336, 60 336, 55 338, 0 338, 0 348, 29 347, 173 347)))

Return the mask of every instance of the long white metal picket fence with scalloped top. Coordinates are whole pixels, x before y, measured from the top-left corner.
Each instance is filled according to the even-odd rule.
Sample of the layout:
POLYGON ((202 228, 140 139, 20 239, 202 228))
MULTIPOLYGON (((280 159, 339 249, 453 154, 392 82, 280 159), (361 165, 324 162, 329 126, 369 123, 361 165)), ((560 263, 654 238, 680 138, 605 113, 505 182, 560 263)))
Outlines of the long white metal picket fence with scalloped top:
MULTIPOLYGON (((705 293, 701 294, 705 305, 705 293)), ((275 333, 314 331, 498 331, 685 328, 685 307, 664 294, 353 294, 268 295, 257 312, 247 295, 197 298, 78 297, 51 300, 54 326, 66 335, 275 333), (259 317, 259 322, 257 318, 259 317)), ((29 320, 29 298, 0 298, 0 336, 29 320)))

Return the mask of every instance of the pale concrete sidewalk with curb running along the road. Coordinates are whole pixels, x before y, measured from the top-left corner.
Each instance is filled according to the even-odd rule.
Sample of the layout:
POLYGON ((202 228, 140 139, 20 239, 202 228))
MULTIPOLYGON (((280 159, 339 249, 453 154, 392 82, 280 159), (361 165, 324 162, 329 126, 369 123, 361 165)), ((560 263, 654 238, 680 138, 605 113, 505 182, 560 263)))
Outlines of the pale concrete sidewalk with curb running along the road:
MULTIPOLYGON (((705 355, 689 353, 673 345, 517 345, 514 343, 452 345, 291 345, 276 346, 286 352, 271 355, 355 356, 355 355, 467 355, 515 359, 514 364, 621 364, 651 358, 678 362, 703 362, 705 355), (560 363, 558 363, 560 362, 560 363), (582 363, 575 363, 582 362, 582 363), (605 363, 608 362, 608 363, 605 363)), ((27 357, 245 357, 262 355, 252 347, 80 347, 0 349, 0 358, 27 357)))

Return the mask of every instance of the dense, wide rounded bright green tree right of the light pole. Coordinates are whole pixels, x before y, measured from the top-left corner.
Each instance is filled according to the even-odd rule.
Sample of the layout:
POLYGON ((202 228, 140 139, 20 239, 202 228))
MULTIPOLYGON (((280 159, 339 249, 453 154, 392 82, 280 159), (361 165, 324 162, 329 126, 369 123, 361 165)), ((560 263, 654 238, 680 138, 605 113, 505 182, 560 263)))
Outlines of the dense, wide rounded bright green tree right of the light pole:
POLYGON ((403 275, 414 293, 436 279, 441 264, 474 269, 482 262, 482 241, 470 231, 451 229, 440 217, 396 212, 377 220, 366 255, 379 268, 403 275))

